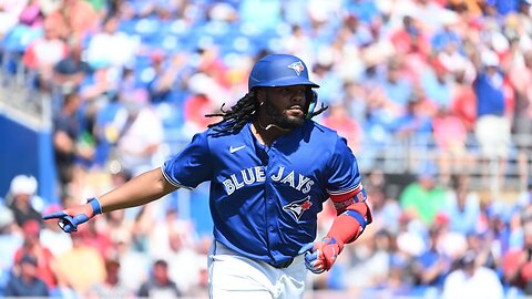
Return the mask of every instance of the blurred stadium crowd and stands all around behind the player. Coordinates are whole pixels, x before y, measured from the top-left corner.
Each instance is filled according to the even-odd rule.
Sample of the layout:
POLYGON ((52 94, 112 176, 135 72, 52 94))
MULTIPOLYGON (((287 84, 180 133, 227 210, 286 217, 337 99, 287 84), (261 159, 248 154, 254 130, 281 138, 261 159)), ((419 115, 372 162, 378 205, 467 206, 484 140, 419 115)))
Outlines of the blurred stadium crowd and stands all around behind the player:
POLYGON ((308 298, 532 296, 531 3, 0 0, 0 297, 206 298, 207 184, 41 215, 158 167, 268 53, 307 63, 374 213, 308 298))

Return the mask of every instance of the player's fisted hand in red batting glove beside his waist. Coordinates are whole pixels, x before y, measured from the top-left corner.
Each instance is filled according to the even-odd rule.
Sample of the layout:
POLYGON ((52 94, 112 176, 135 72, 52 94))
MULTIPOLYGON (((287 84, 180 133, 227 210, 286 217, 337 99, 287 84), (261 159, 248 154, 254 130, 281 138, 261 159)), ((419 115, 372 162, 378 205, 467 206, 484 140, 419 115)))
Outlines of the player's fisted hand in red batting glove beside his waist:
POLYGON ((330 270, 336 258, 344 249, 344 243, 331 237, 319 241, 309 243, 299 249, 299 255, 305 255, 305 266, 313 274, 330 270))

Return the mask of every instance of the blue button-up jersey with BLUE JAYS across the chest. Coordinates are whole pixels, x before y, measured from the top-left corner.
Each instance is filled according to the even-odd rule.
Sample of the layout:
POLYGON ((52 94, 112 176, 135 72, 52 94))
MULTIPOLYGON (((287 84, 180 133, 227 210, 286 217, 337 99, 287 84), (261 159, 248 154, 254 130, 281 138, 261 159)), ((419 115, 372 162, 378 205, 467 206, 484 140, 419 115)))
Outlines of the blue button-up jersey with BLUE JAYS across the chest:
POLYGON ((314 241, 317 214, 330 195, 360 185, 346 140, 314 121, 260 144, 250 123, 237 134, 212 128, 162 166, 173 185, 209 181, 214 238, 243 256, 280 264, 314 241))

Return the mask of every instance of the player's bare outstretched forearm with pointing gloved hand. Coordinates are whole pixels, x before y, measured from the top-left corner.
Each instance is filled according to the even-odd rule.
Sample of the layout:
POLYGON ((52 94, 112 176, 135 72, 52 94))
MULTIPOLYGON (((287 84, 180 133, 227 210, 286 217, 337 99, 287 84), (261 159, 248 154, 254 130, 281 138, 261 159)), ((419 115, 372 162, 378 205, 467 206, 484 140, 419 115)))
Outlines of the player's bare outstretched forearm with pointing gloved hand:
POLYGON ((59 219, 61 229, 72 233, 78 230, 78 225, 86 223, 98 214, 141 206, 175 189, 177 187, 164 178, 161 168, 156 168, 132 178, 100 198, 91 198, 86 204, 48 214, 42 218, 59 219))

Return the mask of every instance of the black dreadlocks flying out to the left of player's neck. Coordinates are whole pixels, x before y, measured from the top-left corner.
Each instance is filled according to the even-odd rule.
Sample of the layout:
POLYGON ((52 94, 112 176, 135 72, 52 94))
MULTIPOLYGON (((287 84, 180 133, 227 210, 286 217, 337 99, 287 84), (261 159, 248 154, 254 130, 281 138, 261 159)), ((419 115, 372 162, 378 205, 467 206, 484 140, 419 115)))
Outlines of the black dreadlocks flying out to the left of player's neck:
POLYGON ((206 114, 205 117, 221 116, 222 121, 209 124, 207 127, 214 127, 213 130, 217 133, 228 135, 238 133, 246 123, 255 117, 255 113, 258 110, 258 102, 255 99, 255 92, 250 91, 229 110, 224 110, 224 106, 225 103, 219 107, 219 113, 206 114), (217 125, 221 126, 215 127, 217 125))

